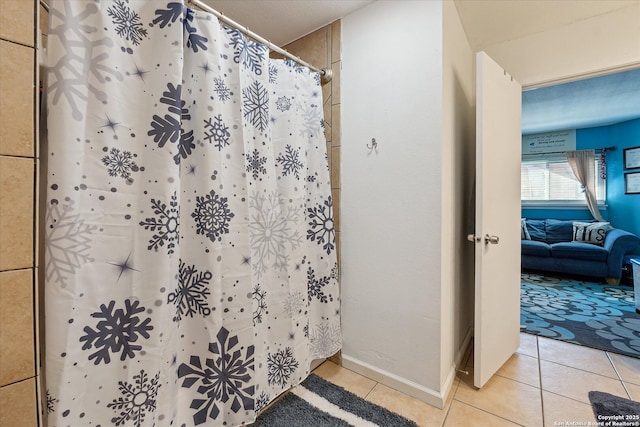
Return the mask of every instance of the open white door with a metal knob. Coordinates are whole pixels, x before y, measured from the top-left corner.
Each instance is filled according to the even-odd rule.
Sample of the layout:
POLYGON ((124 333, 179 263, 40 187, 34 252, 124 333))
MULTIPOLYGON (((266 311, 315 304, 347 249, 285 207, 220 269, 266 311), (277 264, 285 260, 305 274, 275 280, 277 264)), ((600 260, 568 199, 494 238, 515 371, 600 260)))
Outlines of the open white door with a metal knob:
POLYGON ((476 54, 476 83, 474 385, 480 388, 520 340, 522 88, 484 52, 476 54))

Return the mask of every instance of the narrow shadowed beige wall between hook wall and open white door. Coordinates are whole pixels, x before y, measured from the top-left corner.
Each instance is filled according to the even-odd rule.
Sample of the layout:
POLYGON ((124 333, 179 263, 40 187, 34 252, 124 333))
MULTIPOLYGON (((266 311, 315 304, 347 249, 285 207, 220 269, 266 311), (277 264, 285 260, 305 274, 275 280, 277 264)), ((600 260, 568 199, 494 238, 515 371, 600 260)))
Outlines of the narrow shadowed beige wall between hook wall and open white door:
POLYGON ((451 386, 471 339, 474 245, 471 189, 475 176, 474 55, 452 1, 443 3, 441 390, 451 386))

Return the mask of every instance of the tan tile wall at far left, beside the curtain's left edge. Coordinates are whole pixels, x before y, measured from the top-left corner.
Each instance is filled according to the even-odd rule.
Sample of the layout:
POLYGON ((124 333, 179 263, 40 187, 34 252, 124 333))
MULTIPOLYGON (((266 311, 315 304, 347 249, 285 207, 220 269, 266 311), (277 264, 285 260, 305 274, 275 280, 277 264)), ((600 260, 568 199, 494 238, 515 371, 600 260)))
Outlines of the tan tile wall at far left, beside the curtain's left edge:
POLYGON ((0 0, 0 427, 38 425, 37 2, 0 0))

